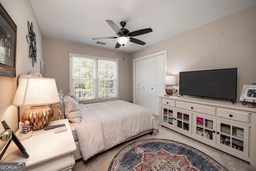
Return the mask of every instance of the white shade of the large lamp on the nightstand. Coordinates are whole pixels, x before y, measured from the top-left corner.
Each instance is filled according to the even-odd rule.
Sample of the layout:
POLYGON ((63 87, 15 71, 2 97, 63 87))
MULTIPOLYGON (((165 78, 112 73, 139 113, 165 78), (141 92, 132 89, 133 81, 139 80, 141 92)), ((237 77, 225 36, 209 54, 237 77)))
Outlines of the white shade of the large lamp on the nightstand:
POLYGON ((13 105, 39 106, 59 101, 55 79, 30 77, 20 79, 13 105))

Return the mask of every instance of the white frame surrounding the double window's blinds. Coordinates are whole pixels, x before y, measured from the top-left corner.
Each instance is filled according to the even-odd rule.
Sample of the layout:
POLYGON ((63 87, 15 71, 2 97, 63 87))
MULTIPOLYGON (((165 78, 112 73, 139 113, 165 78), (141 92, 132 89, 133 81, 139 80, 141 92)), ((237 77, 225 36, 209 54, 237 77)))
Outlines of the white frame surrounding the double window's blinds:
POLYGON ((118 59, 114 58, 104 58, 104 57, 98 57, 98 56, 89 56, 89 55, 82 55, 82 54, 69 54, 69 89, 74 91, 72 89, 72 57, 77 57, 77 58, 87 58, 87 59, 93 59, 96 60, 96 65, 95 65, 95 70, 96 70, 96 98, 93 99, 79 99, 79 102, 90 102, 90 101, 104 101, 104 100, 109 100, 109 99, 118 99, 118 59), (98 85, 98 60, 106 60, 106 61, 112 61, 116 62, 116 96, 114 97, 98 97, 98 91, 99 91, 99 85, 98 85))

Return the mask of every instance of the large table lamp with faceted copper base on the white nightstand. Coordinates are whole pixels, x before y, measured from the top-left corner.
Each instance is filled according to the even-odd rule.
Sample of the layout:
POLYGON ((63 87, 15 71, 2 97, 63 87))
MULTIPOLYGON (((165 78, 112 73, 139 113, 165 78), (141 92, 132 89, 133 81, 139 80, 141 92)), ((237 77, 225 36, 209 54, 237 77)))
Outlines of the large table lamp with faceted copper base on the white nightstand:
POLYGON ((22 122, 30 121, 31 129, 43 129, 52 121, 53 110, 46 106, 59 102, 58 90, 53 78, 21 78, 13 100, 15 106, 31 106, 22 114, 22 122))

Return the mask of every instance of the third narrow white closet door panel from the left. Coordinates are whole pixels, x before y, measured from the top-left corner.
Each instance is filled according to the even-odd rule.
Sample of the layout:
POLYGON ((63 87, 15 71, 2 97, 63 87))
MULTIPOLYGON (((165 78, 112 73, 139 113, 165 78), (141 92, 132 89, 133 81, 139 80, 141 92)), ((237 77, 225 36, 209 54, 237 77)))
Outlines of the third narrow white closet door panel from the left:
POLYGON ((156 56, 148 58, 148 107, 156 114, 156 56))

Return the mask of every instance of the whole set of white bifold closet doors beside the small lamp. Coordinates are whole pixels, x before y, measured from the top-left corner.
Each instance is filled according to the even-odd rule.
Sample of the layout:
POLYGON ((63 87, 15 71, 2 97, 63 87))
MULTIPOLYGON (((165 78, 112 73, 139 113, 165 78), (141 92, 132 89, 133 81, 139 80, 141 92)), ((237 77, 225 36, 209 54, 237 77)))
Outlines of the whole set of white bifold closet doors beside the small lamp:
POLYGON ((158 95, 165 90, 166 75, 164 54, 135 62, 135 104, 149 109, 159 115, 158 95))

